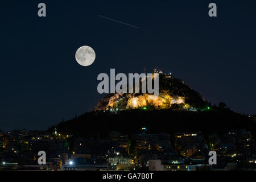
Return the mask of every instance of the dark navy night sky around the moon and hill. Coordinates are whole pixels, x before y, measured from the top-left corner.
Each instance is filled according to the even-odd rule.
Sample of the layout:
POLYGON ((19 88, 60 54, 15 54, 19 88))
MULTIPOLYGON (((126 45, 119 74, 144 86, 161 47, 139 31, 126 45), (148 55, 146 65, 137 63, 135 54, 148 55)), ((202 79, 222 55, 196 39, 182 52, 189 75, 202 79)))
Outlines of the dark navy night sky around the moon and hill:
POLYGON ((1 2, 0 130, 47 129, 92 110, 104 96, 97 75, 110 75, 110 68, 172 72, 213 104, 256 114, 255 7, 255 1, 1 2), (46 18, 38 16, 40 2, 46 18), (208 16, 211 2, 217 17, 208 16), (81 46, 96 52, 89 67, 75 60, 81 46))

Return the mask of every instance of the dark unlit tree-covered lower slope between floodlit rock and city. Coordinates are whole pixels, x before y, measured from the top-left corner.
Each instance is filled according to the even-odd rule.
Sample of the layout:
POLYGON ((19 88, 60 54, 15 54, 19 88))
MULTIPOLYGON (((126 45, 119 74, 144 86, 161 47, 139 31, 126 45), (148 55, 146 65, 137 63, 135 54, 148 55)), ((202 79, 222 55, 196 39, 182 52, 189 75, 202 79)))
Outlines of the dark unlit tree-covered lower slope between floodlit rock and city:
POLYGON ((116 130, 122 134, 137 134, 142 127, 147 127, 148 133, 175 133, 177 131, 203 131, 224 134, 232 129, 246 129, 252 134, 256 132, 256 122, 247 115, 234 113, 227 108, 212 106, 209 110, 143 110, 133 109, 118 111, 89 112, 67 122, 61 122, 49 128, 53 132, 86 138, 105 138, 110 131, 116 130))

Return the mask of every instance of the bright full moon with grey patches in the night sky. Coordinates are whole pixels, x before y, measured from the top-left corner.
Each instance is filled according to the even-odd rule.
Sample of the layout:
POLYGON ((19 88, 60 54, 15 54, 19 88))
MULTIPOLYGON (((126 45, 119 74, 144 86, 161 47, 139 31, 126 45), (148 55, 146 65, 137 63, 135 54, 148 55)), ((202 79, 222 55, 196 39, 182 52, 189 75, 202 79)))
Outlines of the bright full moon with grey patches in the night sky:
POLYGON ((76 61, 84 67, 93 64, 95 57, 94 50, 89 46, 82 46, 76 51, 76 61))

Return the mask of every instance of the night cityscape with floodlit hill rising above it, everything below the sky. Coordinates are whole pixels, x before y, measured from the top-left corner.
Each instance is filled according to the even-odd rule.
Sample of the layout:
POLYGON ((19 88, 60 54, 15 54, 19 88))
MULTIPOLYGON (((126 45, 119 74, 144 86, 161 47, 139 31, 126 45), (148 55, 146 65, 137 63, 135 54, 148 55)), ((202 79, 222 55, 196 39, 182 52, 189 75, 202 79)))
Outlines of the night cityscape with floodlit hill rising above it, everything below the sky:
POLYGON ((159 97, 156 100, 147 100, 147 94, 108 94, 98 102, 93 111, 76 116, 67 122, 62 121, 46 131, 26 129, 1 131, 0 169, 64 171, 254 171, 256 169, 255 130, 252 130, 252 133, 240 126, 242 120, 246 123, 246 127, 252 126, 255 129, 256 115, 234 113, 224 102, 211 105, 199 93, 190 88, 186 89, 187 85, 184 81, 171 76, 170 73, 165 74, 156 69, 154 73, 160 74, 159 97), (183 94, 186 97, 183 97, 183 94), (189 98, 190 95, 193 96, 192 99, 189 98), (159 111, 163 113, 157 113, 159 111), (190 115, 190 119, 183 121, 183 117, 175 117, 175 114, 179 113, 190 115), (216 122, 217 127, 222 127, 224 130, 213 128, 211 131, 205 128, 211 121, 204 120, 202 115, 206 114, 206 117, 210 117, 212 113, 224 119, 229 118, 225 121, 228 126, 216 122), (197 119, 192 119, 193 114, 197 114, 197 119), (237 121, 232 118, 234 114, 237 121), (141 117, 138 118, 138 115, 141 117), (144 115, 151 115, 152 121, 144 115), (97 123, 102 122, 101 118, 109 119, 105 119, 105 126, 101 124, 98 128, 97 123), (127 121, 131 118, 137 120, 127 121), (143 122, 143 118, 148 123, 143 122), (165 119, 169 120, 169 124, 161 122, 165 119), (209 123, 200 124, 200 119, 209 123), (93 125, 92 122, 96 124, 93 125), (124 122, 125 129, 118 131, 121 122, 124 122), (197 122, 203 130, 198 130, 200 127, 175 124, 179 122, 183 125, 187 125, 187 122, 197 122), (236 122, 238 122, 237 126, 236 122), (143 123, 145 126, 139 127, 143 126, 143 123), (167 128, 163 129, 163 127, 167 128), (153 128, 156 130, 152 130, 153 128), (38 164, 40 155, 36 155, 37 151, 46 152, 45 164, 38 164), (217 152, 216 165, 209 164, 209 151, 217 152))

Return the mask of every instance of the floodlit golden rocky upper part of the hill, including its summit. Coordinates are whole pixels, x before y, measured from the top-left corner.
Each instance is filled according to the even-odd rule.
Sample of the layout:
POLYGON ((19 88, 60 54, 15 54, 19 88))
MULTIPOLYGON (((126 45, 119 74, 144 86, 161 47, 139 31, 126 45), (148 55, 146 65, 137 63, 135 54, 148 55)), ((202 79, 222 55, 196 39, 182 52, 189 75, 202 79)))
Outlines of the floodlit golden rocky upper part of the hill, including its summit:
MULTIPOLYGON (((154 79, 154 78, 153 78, 154 79)), ((188 110, 193 107, 204 107, 206 102, 200 93, 192 90, 184 81, 171 75, 159 73, 159 97, 150 100, 152 94, 108 94, 93 108, 100 110, 127 110, 144 107, 170 109, 179 107, 188 110), (178 106, 177 106, 178 105, 178 106)))

